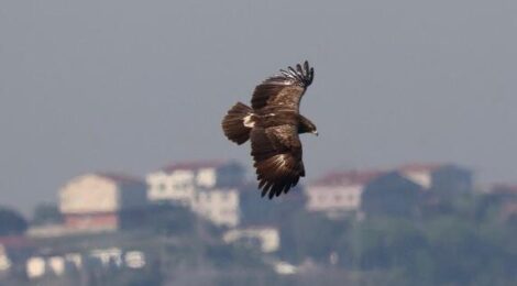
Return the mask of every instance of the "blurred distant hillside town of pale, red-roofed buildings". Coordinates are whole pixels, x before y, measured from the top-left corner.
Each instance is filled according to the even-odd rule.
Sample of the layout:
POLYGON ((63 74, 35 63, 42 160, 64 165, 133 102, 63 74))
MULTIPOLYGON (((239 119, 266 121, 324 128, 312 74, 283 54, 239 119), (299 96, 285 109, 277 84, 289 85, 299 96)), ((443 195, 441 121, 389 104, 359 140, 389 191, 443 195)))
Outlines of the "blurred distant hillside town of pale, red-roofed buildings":
MULTIPOLYGON (((286 251, 282 213, 316 213, 337 221, 386 213, 413 217, 449 196, 472 194, 514 196, 517 186, 480 189, 468 167, 418 163, 336 170, 268 200, 233 161, 180 162, 145 178, 78 174, 63 183, 55 205, 36 207, 25 226, 13 218, 15 210, 3 211, 13 213, 0 218, 0 285, 119 285, 110 280, 112 273, 147 277, 142 285, 183 285, 177 276, 166 277, 165 270, 185 270, 189 263, 221 265, 220 257, 228 260, 231 248, 242 248, 268 275, 296 275, 308 266, 280 254, 286 251), (197 253, 194 245, 209 246, 197 253), (211 248, 226 254, 210 256, 211 248), (201 262, 187 262, 196 255, 201 262)), ((514 215, 517 204, 508 200, 499 216, 514 215)), ((326 263, 339 260, 342 255, 331 252, 326 263)))

